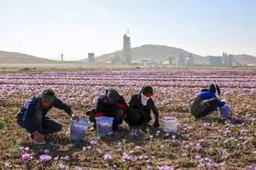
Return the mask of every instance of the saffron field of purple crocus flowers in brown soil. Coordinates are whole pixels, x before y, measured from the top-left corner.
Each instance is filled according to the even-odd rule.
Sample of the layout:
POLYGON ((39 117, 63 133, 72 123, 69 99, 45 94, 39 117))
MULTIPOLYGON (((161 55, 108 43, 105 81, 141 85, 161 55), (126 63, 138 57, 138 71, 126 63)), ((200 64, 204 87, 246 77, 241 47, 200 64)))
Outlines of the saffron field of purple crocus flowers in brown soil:
POLYGON ((1 169, 256 169, 255 120, 255 69, 0 71, 1 169), (187 102, 211 83, 219 85, 219 99, 226 98, 231 109, 229 118, 214 111, 209 115, 214 122, 205 123, 188 113, 187 102), (21 106, 46 88, 89 120, 85 113, 107 88, 117 89, 127 102, 143 85, 154 87, 158 129, 154 118, 149 126, 123 121, 112 135, 87 130, 83 141, 73 141, 69 115, 53 108, 48 115, 62 131, 46 135, 47 145, 32 145, 16 124, 21 106), (166 116, 177 118, 176 132, 162 130, 166 116))

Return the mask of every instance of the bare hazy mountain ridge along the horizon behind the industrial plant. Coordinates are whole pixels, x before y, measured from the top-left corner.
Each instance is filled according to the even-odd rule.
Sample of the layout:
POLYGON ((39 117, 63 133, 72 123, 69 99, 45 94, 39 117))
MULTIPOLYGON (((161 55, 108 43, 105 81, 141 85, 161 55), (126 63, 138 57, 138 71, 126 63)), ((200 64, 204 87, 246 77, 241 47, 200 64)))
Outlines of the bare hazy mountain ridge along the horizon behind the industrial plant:
MULTIPOLYGON (((133 62, 141 61, 142 59, 153 59, 155 61, 162 61, 170 55, 176 57, 180 53, 187 56, 190 52, 181 48, 176 48, 167 45, 141 45, 133 47, 132 49, 133 62)), ((96 62, 105 62, 111 60, 112 55, 122 56, 123 50, 115 51, 113 53, 95 56, 96 62)), ((229 55, 229 54, 228 54, 229 55)), ((200 64, 206 60, 206 56, 194 54, 195 64, 200 64)), ((234 62, 239 62, 242 65, 256 65, 256 57, 252 55, 234 55, 234 62)), ((64 61, 65 63, 85 63, 88 58, 78 61, 64 61)), ((175 61, 173 63, 176 63, 175 61)), ((58 60, 50 60, 47 58, 37 57, 34 55, 20 54, 16 52, 0 51, 0 64, 63 64, 58 60)))

